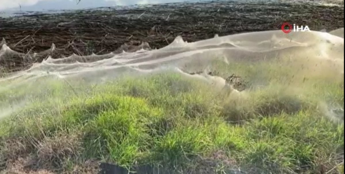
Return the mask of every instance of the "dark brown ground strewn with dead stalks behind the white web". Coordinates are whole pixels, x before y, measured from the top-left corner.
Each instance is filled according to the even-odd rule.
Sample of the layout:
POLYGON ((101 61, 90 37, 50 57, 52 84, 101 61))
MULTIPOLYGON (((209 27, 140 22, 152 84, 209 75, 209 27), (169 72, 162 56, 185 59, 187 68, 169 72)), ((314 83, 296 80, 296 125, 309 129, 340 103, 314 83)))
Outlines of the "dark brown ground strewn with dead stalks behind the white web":
MULTIPOLYGON (((276 30, 286 21, 311 30, 344 27, 344 1, 337 6, 306 1, 211 1, 134 8, 97 8, 57 14, 0 18, 0 39, 18 52, 47 50, 87 55, 121 51, 148 42, 161 48, 181 35, 193 42, 241 32, 276 30)), ((39 60, 38 60, 39 61, 39 60)))

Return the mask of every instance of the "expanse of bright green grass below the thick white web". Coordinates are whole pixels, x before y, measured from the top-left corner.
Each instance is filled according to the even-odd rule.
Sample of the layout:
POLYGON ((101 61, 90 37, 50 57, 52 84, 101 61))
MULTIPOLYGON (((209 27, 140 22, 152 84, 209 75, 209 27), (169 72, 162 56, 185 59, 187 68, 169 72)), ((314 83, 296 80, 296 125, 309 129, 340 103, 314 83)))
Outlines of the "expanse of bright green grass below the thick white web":
POLYGON ((172 173, 231 173, 239 167, 248 173, 341 173, 335 155, 344 147, 344 125, 318 106, 343 106, 343 82, 319 77, 286 85, 286 78, 279 79, 284 75, 275 78, 269 68, 258 73, 222 66, 223 75, 237 67, 248 79, 270 80, 244 99, 175 73, 98 85, 42 80, 3 90, 0 106, 28 103, 0 121, 0 171, 19 156, 31 156, 58 173, 90 159, 172 173))

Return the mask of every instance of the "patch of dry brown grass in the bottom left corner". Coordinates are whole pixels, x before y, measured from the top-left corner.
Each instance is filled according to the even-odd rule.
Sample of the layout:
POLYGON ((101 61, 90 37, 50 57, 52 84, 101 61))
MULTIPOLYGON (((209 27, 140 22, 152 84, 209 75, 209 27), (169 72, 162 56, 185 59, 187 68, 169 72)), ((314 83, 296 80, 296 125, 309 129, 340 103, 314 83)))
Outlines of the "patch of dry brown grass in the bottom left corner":
MULTIPOLYGON (((49 171, 61 173, 66 169, 66 159, 76 159, 81 150, 80 135, 77 133, 61 132, 38 142, 10 139, 2 145, 0 164, 3 165, 2 169, 6 169, 4 174, 51 173, 49 171)), ((86 162, 85 165, 81 163, 75 165, 73 170, 67 170, 74 171, 73 174, 85 173, 80 171, 92 171, 90 168, 95 167, 95 164, 90 164, 91 162, 86 162)))

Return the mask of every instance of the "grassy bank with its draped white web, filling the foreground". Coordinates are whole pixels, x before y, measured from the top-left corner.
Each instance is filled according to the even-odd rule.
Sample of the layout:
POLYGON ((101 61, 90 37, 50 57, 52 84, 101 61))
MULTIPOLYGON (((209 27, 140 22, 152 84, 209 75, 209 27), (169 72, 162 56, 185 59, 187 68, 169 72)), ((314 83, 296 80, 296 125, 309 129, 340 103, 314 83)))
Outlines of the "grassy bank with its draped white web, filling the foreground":
POLYGON ((342 173, 343 57, 342 37, 264 31, 48 58, 0 78, 0 171, 342 173))

